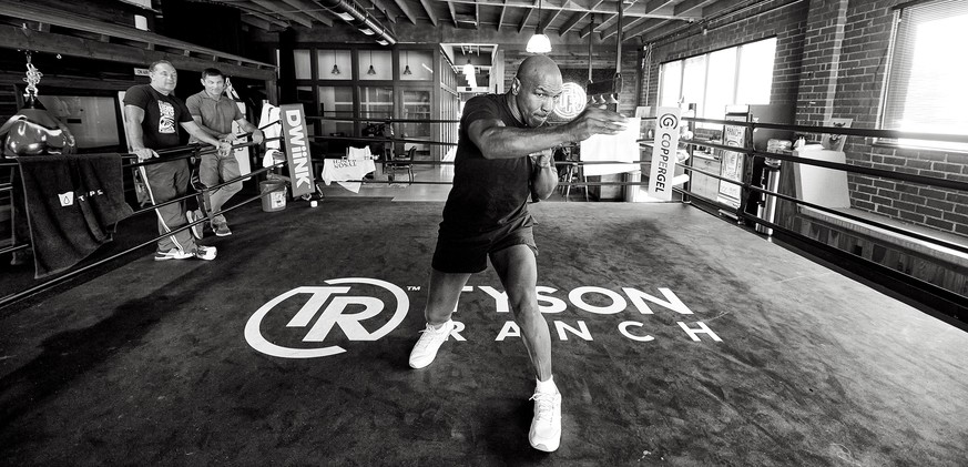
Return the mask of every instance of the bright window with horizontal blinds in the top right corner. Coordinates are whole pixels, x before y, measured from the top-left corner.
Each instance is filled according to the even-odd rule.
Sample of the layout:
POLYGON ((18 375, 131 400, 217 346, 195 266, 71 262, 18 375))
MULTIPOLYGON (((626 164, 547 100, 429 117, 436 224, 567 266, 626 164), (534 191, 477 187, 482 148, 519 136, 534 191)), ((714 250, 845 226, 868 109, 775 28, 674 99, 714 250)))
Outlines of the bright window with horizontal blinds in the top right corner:
MULTIPOLYGON (((882 104, 884 130, 968 134, 968 62, 955 44, 968 43, 968 2, 918 3, 896 13, 890 65, 882 104)), ((968 151, 966 143, 899 140, 903 145, 968 151)))

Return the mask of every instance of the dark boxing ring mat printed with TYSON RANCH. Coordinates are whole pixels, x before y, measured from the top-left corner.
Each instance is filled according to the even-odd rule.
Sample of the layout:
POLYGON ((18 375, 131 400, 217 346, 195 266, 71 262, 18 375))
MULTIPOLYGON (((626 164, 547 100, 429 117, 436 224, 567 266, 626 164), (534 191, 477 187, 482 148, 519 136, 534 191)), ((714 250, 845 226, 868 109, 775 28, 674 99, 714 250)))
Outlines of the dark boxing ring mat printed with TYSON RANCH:
POLYGON ((461 297, 466 341, 451 339, 428 368, 407 366, 441 206, 246 206, 231 217, 234 235, 211 240, 214 262, 154 263, 145 251, 33 306, 0 309, 0 459, 968 459, 968 334, 694 207, 633 203, 532 206, 542 305, 564 308, 546 315, 562 446, 536 451, 530 365, 492 297, 492 271, 461 297), (350 305, 336 316, 340 300, 350 305), (694 342, 686 328, 701 327, 712 334, 694 342), (345 352, 300 358, 314 349, 345 352))

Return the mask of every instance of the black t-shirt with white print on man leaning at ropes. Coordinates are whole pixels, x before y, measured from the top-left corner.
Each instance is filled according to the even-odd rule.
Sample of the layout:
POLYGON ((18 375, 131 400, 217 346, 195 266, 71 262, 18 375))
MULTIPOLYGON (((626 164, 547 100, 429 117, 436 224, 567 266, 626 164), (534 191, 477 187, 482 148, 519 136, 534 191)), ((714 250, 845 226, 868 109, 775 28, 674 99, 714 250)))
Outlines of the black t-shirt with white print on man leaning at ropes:
POLYGON ((194 121, 181 99, 171 94, 164 95, 155 91, 151 84, 131 87, 124 93, 124 104, 144 111, 141 130, 144 146, 147 149, 160 150, 181 145, 179 124, 194 121))

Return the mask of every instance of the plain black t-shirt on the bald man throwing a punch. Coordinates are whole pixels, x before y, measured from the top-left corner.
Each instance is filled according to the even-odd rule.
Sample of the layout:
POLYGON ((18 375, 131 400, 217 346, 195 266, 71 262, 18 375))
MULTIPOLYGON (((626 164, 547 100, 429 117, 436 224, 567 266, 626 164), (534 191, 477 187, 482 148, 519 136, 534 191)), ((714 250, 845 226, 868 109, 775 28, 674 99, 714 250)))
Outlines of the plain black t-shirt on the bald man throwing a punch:
POLYGON ((485 159, 468 136, 477 120, 501 120, 505 125, 528 128, 511 114, 503 94, 472 98, 463 106, 454 160, 454 186, 444 206, 441 227, 458 232, 487 232, 529 217, 531 158, 485 159))

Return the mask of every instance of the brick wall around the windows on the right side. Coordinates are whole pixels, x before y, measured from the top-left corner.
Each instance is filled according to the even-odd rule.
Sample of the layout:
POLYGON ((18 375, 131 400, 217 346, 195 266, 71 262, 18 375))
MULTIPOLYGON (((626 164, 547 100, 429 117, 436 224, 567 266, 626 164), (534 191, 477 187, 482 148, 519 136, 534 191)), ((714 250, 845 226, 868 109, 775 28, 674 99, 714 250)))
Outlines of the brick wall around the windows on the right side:
MULTIPOLYGON (((640 99, 655 105, 659 65, 712 50, 775 35, 771 102, 794 103, 796 123, 822 125, 853 119, 853 128, 876 129, 888 64, 894 10, 900 0, 809 0, 763 13, 765 2, 742 18, 702 34, 653 48, 651 77, 640 99)), ((819 134, 806 135, 819 140, 819 134)), ((848 164, 968 182, 968 154, 876 145, 849 136, 848 164)), ((968 193, 867 175, 848 175, 852 207, 968 236, 968 193)))

